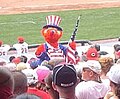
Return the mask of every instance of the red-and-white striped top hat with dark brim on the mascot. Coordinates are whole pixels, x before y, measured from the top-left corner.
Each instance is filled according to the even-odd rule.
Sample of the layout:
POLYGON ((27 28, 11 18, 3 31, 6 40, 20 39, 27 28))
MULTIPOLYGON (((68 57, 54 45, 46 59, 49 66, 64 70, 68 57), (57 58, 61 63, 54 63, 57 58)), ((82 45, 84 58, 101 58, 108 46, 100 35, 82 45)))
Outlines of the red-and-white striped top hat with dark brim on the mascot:
POLYGON ((47 25, 43 26, 43 28, 54 27, 62 31, 62 28, 59 27, 59 23, 61 22, 60 16, 49 15, 46 17, 46 21, 47 21, 47 25))

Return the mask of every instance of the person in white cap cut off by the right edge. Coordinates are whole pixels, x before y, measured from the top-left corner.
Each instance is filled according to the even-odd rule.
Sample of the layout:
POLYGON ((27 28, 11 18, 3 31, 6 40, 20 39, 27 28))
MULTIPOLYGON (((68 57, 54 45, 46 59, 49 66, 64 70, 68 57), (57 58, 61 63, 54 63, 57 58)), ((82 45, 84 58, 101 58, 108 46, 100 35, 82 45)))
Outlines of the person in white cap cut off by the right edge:
POLYGON ((110 79, 111 90, 104 99, 120 99, 120 64, 112 66, 107 76, 110 79))

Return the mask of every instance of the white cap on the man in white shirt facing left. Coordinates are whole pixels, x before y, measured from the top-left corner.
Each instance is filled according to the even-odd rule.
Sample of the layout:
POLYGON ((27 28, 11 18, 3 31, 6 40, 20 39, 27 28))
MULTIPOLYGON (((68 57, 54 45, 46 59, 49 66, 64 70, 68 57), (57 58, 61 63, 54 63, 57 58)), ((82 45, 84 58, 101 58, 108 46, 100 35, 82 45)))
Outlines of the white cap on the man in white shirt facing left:
POLYGON ((83 65, 83 68, 89 68, 97 74, 101 73, 101 65, 96 60, 88 60, 86 64, 83 65))

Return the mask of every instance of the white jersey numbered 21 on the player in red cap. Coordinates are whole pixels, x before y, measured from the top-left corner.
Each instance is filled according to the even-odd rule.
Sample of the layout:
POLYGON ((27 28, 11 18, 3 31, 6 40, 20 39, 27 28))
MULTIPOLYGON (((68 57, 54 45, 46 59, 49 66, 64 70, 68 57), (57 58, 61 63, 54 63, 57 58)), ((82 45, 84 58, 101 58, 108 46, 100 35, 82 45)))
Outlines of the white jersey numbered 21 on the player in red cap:
POLYGON ((28 54, 28 44, 26 42, 14 44, 13 47, 17 51, 17 56, 26 56, 28 54))

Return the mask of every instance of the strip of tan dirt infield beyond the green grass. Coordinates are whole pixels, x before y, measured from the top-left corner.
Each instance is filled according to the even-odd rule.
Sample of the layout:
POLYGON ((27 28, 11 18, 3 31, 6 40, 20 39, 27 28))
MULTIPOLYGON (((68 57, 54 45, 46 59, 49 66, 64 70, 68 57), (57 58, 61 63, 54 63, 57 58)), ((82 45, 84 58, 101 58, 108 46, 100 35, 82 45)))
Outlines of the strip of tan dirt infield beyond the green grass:
POLYGON ((0 14, 120 7, 120 0, 0 0, 0 14))

